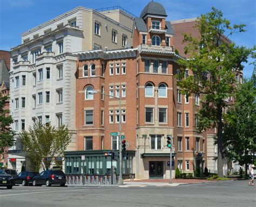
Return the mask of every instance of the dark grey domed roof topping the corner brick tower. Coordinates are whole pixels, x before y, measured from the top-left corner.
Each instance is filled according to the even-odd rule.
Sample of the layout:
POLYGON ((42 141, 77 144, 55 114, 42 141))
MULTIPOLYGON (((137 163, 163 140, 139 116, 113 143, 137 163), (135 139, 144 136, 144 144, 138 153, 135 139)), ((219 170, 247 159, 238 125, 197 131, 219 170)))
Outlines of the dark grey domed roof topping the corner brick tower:
POLYGON ((140 18, 144 18, 146 15, 167 16, 164 6, 157 2, 148 3, 140 13, 140 18))

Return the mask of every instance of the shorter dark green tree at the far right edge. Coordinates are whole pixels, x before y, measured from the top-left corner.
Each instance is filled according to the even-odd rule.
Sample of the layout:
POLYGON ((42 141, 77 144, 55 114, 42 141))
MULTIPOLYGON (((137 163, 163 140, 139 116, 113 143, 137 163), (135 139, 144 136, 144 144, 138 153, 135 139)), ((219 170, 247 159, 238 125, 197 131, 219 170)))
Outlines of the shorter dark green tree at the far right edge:
POLYGON ((224 116, 225 156, 229 160, 245 164, 247 176, 248 164, 254 162, 256 149, 256 88, 253 81, 244 81, 235 92, 235 104, 224 116))

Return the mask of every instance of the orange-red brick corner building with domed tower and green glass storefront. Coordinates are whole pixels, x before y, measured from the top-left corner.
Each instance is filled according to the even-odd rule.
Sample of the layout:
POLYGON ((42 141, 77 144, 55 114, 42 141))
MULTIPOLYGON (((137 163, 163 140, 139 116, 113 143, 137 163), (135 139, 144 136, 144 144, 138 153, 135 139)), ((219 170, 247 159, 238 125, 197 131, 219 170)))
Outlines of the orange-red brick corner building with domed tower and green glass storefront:
POLYGON ((176 33, 166 17, 161 4, 150 2, 134 19, 133 48, 75 53, 77 151, 65 154, 67 173, 105 174, 110 161, 104 152, 119 149, 119 137, 110 135, 119 121, 129 142, 124 174, 169 178, 167 136, 173 137, 172 170, 203 171, 207 137, 195 129, 200 97, 185 97, 177 87, 174 60, 183 57, 173 51, 176 33), (92 90, 99 93, 87 93, 92 90), (121 111, 117 99, 100 93, 121 96, 121 111))

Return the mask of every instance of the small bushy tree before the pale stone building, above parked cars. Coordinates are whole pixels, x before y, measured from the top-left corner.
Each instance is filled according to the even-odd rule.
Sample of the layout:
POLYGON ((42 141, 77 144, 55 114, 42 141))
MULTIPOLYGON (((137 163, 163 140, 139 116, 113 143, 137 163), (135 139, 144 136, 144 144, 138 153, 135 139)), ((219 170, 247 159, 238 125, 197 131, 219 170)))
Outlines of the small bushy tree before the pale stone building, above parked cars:
POLYGON ((28 131, 19 134, 26 156, 35 163, 36 167, 49 169, 55 157, 62 157, 71 140, 68 127, 58 128, 50 123, 43 125, 37 121, 28 131))

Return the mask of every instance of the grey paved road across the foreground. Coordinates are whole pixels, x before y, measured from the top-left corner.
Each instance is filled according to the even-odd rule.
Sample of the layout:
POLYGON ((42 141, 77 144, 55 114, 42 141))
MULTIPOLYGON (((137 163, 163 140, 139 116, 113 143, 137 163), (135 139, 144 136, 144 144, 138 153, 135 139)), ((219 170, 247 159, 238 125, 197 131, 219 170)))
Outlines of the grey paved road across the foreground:
POLYGON ((1 207, 42 206, 255 206, 255 186, 247 181, 177 187, 22 187, 0 188, 1 207))

